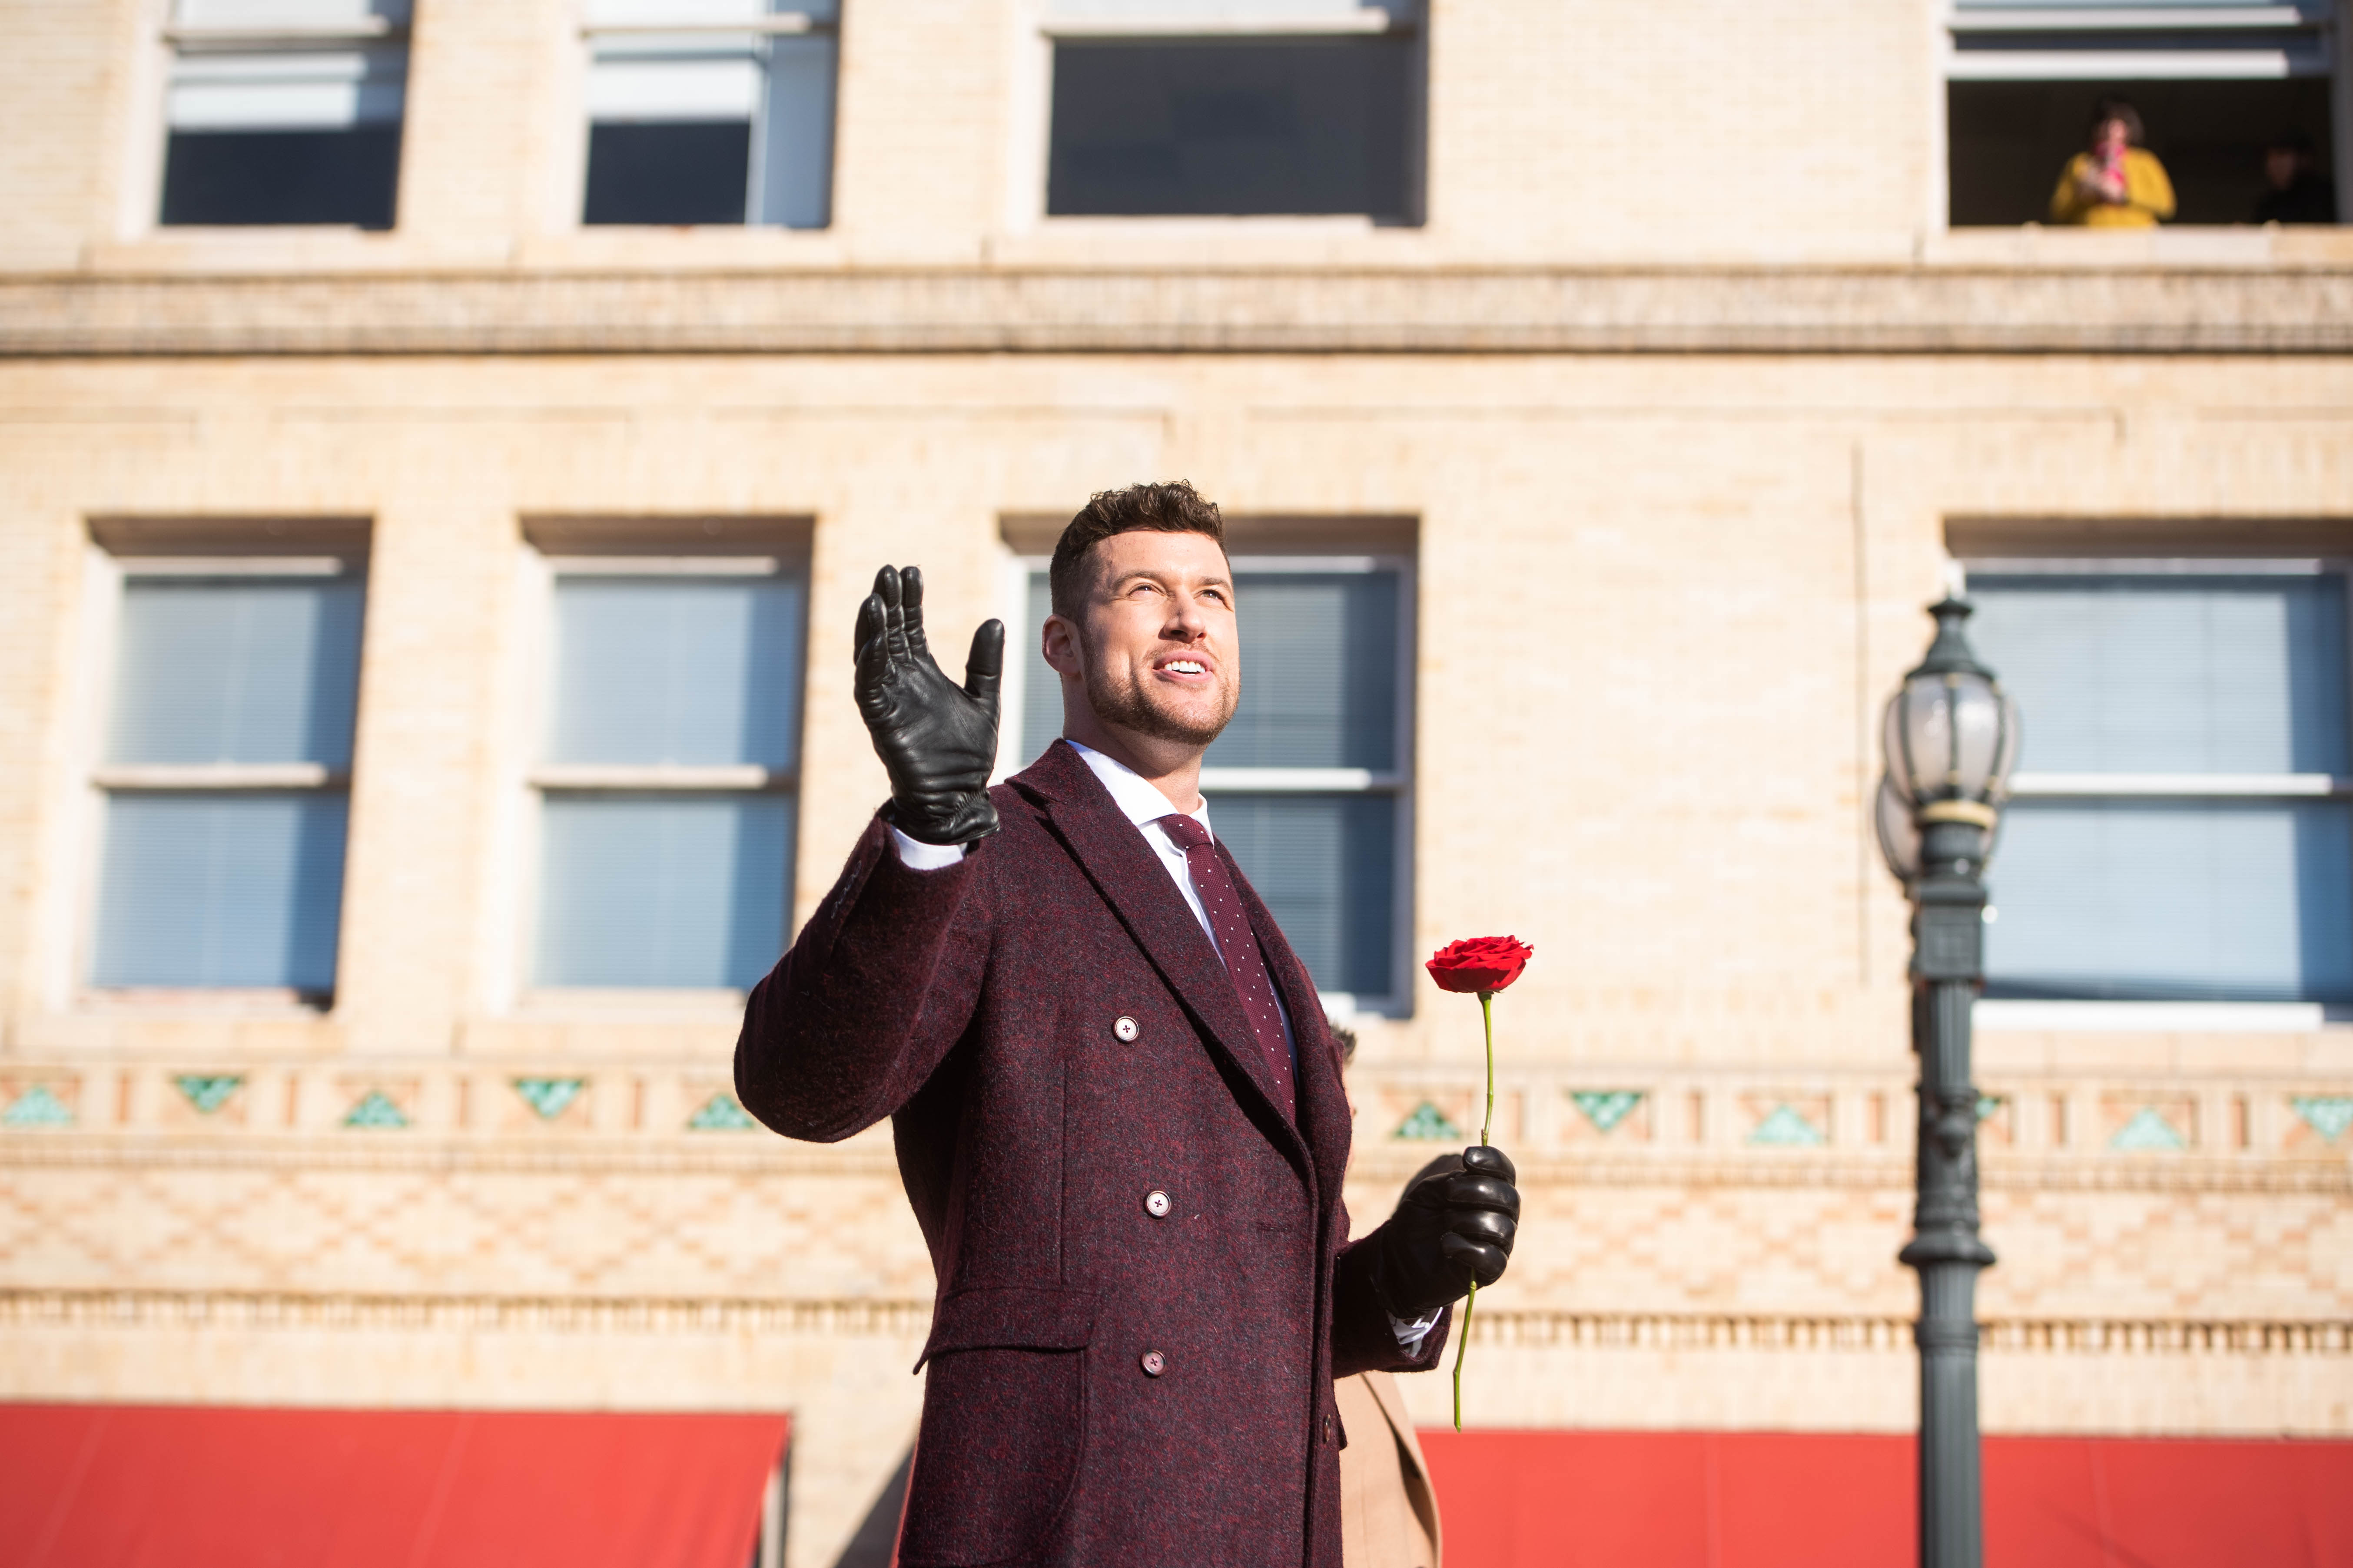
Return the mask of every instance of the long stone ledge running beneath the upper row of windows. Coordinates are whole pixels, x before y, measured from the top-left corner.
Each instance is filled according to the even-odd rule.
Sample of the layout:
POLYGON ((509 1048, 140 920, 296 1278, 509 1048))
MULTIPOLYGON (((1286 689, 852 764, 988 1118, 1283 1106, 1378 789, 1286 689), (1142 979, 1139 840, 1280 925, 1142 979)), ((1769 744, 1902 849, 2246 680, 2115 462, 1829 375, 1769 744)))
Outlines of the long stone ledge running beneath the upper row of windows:
POLYGON ((40 275, 0 355, 2353 353, 2353 268, 40 275))

